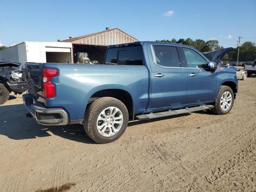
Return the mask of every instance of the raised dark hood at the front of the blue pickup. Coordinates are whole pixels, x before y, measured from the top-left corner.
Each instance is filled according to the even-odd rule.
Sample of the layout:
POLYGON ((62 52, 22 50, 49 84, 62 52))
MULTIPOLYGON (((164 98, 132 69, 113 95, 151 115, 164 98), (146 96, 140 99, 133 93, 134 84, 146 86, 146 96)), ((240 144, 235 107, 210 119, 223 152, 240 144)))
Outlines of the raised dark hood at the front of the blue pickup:
POLYGON ((211 62, 215 62, 218 65, 222 61, 224 56, 227 54, 227 52, 231 50, 233 50, 233 48, 229 47, 229 48, 218 49, 211 52, 204 52, 202 54, 206 56, 208 60, 210 60, 211 62))

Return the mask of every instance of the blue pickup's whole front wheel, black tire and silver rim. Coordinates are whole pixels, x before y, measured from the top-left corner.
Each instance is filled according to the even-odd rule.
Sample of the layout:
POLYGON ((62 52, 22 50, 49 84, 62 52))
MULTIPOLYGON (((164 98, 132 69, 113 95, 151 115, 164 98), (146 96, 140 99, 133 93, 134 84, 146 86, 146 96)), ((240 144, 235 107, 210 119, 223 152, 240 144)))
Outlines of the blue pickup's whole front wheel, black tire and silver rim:
POLYGON ((220 90, 216 99, 212 112, 218 115, 224 115, 230 112, 234 104, 234 92, 229 86, 220 86, 220 90))

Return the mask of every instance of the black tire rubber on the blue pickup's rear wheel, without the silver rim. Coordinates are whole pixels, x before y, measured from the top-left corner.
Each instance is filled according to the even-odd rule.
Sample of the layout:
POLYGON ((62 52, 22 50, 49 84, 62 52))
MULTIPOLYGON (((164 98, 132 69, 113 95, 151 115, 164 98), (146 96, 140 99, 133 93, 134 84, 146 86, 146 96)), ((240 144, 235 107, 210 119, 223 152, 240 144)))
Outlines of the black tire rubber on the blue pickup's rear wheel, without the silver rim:
POLYGON ((100 144, 110 143, 122 136, 128 125, 129 115, 126 106, 118 99, 112 97, 98 98, 86 109, 84 115, 84 130, 86 134, 94 141, 100 144), (97 120, 100 113, 108 108, 116 107, 123 115, 123 124, 120 130, 113 136, 103 136, 97 129, 97 120))

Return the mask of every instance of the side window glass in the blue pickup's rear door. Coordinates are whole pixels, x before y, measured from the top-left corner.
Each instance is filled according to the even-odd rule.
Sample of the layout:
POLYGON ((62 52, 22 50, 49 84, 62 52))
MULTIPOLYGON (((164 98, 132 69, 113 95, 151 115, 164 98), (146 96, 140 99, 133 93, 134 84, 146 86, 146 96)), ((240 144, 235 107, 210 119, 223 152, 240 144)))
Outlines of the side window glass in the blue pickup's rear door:
POLYGON ((164 67, 180 67, 180 60, 176 47, 153 46, 156 64, 164 67))

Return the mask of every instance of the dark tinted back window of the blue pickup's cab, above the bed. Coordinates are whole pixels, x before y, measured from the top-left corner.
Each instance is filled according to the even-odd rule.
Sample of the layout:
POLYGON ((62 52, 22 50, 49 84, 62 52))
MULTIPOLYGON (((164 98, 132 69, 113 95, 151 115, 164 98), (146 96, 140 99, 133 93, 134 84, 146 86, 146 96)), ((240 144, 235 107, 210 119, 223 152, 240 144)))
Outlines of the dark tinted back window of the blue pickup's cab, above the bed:
POLYGON ((143 65, 142 46, 110 48, 106 54, 105 64, 143 65))

